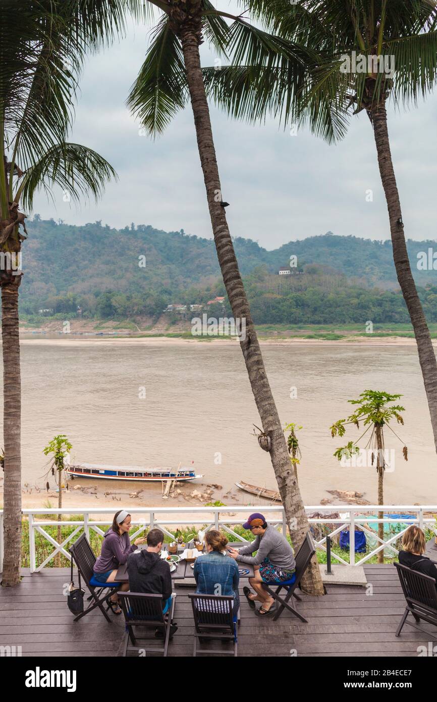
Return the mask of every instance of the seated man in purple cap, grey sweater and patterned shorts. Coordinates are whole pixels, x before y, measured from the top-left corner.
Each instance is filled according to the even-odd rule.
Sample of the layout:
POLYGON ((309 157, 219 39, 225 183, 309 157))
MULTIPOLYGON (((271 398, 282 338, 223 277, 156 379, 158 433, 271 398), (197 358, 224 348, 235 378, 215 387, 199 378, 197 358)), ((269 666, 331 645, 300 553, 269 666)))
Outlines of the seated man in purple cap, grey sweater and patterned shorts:
MULTIPOLYGON (((267 524, 264 515, 254 512, 243 524, 244 529, 250 529, 255 541, 239 550, 229 548, 229 555, 239 563, 250 563, 255 570, 255 576, 249 578, 255 592, 243 588, 249 607, 255 609, 255 602, 260 602, 258 616, 269 616, 274 609, 274 599, 264 590, 262 583, 288 583, 295 579, 295 555, 285 536, 277 529, 267 524), (254 556, 253 552, 257 551, 254 556)), ((291 584, 291 583, 290 583, 291 584)))

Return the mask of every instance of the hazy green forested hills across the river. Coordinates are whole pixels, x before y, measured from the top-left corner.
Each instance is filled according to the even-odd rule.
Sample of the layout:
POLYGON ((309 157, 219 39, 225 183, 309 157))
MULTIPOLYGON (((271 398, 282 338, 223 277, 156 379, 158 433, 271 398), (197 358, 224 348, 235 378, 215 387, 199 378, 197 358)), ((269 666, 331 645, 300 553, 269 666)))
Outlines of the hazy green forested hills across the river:
MULTIPOLYGON (((101 222, 76 227, 43 221, 37 215, 29 232, 26 274, 20 287, 20 314, 28 326, 81 317, 95 319, 96 330, 105 329, 102 324, 112 320, 135 332, 133 320, 141 317, 144 329, 156 322, 167 305, 180 303, 188 311, 167 313, 166 331, 178 322, 189 329, 191 318, 201 314, 190 312, 189 305, 206 305, 216 296, 225 297, 224 307, 209 305, 208 314, 231 314, 210 239, 191 237, 183 230, 161 232, 150 225, 132 224, 120 231, 101 222), (121 252, 118 258, 114 249, 121 252), (44 274, 47 265, 50 279, 44 274)), ((419 288, 419 296, 432 326, 437 322, 437 271, 415 267, 417 253, 427 251, 431 243, 409 241, 408 247, 417 284, 426 286, 419 288)), ((235 239, 234 245, 261 333, 277 331, 282 325, 297 332, 310 326, 309 333, 322 336, 309 338, 336 340, 339 325, 356 324, 357 333, 364 336, 365 323, 371 320, 375 330, 380 324, 401 324, 406 336, 413 336, 397 291, 389 241, 328 232, 291 241, 275 251, 266 251, 250 239, 235 239), (279 267, 288 264, 292 253, 299 266, 293 274, 279 276, 279 267), (313 325, 324 329, 311 331, 313 325), (328 329, 331 325, 335 329, 328 329)))

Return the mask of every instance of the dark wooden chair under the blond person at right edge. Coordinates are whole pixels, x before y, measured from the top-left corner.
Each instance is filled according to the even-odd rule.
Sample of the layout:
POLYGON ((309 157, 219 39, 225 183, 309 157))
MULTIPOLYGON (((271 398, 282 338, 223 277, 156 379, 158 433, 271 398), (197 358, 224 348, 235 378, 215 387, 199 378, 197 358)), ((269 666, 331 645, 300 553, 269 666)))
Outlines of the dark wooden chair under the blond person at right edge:
POLYGON ((405 622, 419 631, 424 631, 419 626, 415 626, 407 621, 408 614, 410 613, 417 623, 423 619, 423 621, 429 624, 437 625, 437 588, 434 578, 412 570, 400 563, 395 563, 394 566, 398 570, 403 594, 405 595, 405 600, 407 600, 407 607, 405 607, 401 622, 396 631, 396 636, 399 636, 401 633, 405 622))

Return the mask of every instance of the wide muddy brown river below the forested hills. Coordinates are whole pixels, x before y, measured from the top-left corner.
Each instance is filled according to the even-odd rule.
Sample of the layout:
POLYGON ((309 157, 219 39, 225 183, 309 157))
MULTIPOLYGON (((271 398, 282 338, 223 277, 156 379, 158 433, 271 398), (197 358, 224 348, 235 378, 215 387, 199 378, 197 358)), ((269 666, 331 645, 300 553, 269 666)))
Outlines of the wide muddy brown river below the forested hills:
MULTIPOLYGON (((332 439, 329 430, 351 413, 347 400, 365 389, 401 393, 405 406, 405 425, 394 430, 408 446, 408 462, 403 443, 386 430, 394 461, 384 501, 437 503, 437 457, 415 347, 272 344, 262 352, 281 422, 303 427, 305 504, 320 503, 331 489, 376 501, 375 468, 344 467, 332 456, 363 429, 348 428, 344 439, 332 439)), ((251 433, 260 418, 237 344, 46 338, 24 340, 21 358, 23 483, 45 484, 43 447, 62 433, 77 462, 182 462, 224 491, 240 479, 276 486, 269 454, 251 433)))

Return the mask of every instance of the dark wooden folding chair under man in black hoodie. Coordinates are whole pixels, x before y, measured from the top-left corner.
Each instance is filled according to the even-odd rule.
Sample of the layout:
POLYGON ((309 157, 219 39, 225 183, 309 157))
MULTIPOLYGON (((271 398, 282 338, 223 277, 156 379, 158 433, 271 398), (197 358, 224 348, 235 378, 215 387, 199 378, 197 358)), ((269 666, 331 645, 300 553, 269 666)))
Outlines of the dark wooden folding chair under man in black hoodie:
POLYGON ((172 596, 171 604, 168 608, 168 615, 164 616, 162 608, 162 595, 148 594, 144 592, 120 592, 119 602, 123 610, 126 621, 126 635, 123 644, 123 656, 127 656, 128 651, 148 651, 149 653, 161 653, 167 657, 168 642, 170 640, 170 630, 173 624, 175 613, 175 600, 172 596), (147 629, 157 629, 163 632, 163 648, 145 648, 140 644, 142 641, 156 640, 153 633, 149 636, 139 636, 135 633, 135 627, 142 626, 147 629), (129 640, 131 646, 129 645, 129 640), (140 644, 140 645, 137 645, 140 644))

